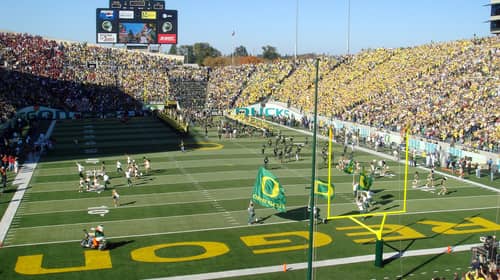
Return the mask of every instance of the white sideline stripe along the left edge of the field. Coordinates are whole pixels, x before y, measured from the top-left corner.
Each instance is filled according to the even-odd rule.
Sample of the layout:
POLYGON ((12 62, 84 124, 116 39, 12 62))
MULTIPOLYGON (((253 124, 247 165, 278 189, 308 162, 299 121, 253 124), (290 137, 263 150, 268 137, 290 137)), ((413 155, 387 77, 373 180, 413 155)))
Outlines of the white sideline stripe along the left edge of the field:
MULTIPOLYGON (((52 131, 56 125, 56 121, 52 121, 50 123, 49 129, 47 130, 46 137, 49 138, 52 135, 52 131)), ((0 221, 0 242, 4 242, 5 237, 7 236, 7 232, 9 231, 10 225, 14 220, 14 216, 16 215, 17 209, 21 204, 21 201, 24 197, 24 193, 26 192, 28 185, 31 181, 31 177, 33 176, 33 171, 38 164, 38 160, 40 160, 40 155, 35 156, 32 162, 26 162, 21 167, 20 172, 17 174, 13 184, 19 184, 12 197, 7 210, 3 214, 2 220, 0 221)))

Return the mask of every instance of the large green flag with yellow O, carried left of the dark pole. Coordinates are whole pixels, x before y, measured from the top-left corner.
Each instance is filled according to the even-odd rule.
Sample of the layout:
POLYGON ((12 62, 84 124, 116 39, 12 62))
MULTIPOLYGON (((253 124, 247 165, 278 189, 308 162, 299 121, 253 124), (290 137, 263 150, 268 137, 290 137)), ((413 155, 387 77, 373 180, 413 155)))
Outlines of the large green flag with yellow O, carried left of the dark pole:
POLYGON ((278 178, 264 167, 260 167, 257 173, 252 199, 255 203, 264 207, 286 212, 285 190, 278 181, 278 178))

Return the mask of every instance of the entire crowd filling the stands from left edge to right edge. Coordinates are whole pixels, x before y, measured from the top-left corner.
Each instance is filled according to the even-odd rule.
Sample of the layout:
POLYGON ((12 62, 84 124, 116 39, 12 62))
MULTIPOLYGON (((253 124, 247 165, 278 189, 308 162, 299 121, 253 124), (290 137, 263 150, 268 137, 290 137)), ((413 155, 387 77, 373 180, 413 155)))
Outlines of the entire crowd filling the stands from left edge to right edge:
MULTIPOLYGON (((321 57, 319 114, 498 152, 499 44, 499 37, 487 37, 321 57)), ((0 70, 2 122, 35 104, 105 112, 168 99, 186 110, 222 111, 271 98, 306 115, 314 106, 312 59, 209 69, 161 55, 0 33, 0 70)))

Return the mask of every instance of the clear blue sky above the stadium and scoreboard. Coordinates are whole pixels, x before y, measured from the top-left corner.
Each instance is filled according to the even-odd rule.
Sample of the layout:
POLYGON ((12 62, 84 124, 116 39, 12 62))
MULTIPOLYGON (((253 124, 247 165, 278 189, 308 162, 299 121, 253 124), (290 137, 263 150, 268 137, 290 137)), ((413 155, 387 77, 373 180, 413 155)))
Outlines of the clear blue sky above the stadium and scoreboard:
MULTIPOLYGON (((260 54, 350 52, 489 35, 489 0, 166 0, 179 12, 178 45, 207 42, 223 54, 243 45, 260 54), (298 3, 298 17, 297 14, 298 3), (298 20, 297 20, 298 19, 298 20), (298 29, 296 36, 296 23, 298 29), (234 32, 234 36, 233 36, 234 32), (297 40, 296 40, 297 38, 297 40)), ((3 3, 0 30, 95 43, 96 8, 109 0, 16 0, 3 3)))

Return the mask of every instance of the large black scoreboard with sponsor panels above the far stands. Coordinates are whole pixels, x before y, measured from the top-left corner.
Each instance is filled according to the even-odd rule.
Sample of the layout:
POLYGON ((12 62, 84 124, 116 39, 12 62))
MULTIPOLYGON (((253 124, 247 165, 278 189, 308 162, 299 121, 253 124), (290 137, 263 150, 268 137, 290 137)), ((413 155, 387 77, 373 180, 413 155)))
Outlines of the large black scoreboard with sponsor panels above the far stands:
POLYGON ((110 0, 96 9, 98 44, 177 44, 177 10, 164 1, 110 0))

